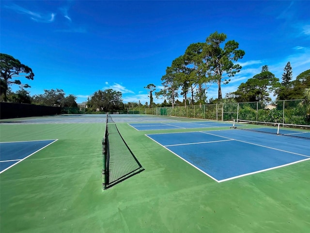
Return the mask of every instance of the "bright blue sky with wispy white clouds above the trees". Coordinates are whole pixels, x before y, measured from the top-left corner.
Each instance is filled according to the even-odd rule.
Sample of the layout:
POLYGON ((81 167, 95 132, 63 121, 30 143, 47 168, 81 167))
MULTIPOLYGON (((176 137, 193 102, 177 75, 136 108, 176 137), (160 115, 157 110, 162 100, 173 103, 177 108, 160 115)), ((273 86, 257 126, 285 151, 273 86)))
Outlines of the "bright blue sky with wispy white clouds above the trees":
POLYGON ((0 52, 32 68, 34 80, 21 79, 31 96, 59 88, 82 102, 112 88, 124 102, 144 104, 144 86, 159 91, 171 62, 216 31, 246 52, 223 97, 263 65, 279 79, 287 62, 294 78, 310 69, 310 1, 1 0, 0 7, 0 52))

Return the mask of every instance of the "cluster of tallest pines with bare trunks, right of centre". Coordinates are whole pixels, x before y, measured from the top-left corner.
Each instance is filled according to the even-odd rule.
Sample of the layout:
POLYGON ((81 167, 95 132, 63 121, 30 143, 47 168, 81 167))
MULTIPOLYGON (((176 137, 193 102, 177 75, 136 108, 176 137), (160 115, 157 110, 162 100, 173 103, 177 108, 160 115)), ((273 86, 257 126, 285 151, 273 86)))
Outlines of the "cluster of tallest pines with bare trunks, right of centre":
MULTIPOLYGON (((161 81, 163 89, 155 92, 156 98, 167 99, 172 107, 179 97, 179 90, 184 97, 185 104, 205 104, 208 83, 217 83, 218 100, 222 100, 221 84, 227 84, 231 78, 241 70, 236 62, 245 55, 244 50, 239 50, 239 43, 230 40, 224 46, 227 35, 224 33, 212 33, 205 43, 190 44, 185 53, 174 59, 161 81), (187 101, 187 96, 190 99, 187 101)), ((154 84, 146 88, 152 97, 154 84), (153 85, 153 86, 152 86, 153 85), (152 87, 152 89, 148 87, 152 87)), ((150 99, 150 106, 153 105, 150 99)))

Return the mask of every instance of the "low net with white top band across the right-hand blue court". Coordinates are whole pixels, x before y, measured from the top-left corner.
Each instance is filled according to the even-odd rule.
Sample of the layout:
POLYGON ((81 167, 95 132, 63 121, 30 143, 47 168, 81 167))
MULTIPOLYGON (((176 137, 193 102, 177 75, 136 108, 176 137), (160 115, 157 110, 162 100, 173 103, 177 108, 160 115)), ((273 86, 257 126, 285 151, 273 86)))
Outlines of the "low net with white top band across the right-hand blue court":
POLYGON ((233 128, 310 139, 310 125, 238 120, 233 128))

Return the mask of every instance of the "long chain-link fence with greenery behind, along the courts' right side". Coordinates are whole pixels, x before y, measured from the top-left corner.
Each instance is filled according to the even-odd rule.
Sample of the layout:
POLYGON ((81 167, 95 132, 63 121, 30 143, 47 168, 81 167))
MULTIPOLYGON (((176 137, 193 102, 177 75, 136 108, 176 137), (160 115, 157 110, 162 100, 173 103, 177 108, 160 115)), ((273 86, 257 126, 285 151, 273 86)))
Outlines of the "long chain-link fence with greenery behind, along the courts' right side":
POLYGON ((146 108, 139 113, 222 121, 235 119, 310 125, 310 113, 307 111, 309 104, 303 100, 281 100, 146 108))

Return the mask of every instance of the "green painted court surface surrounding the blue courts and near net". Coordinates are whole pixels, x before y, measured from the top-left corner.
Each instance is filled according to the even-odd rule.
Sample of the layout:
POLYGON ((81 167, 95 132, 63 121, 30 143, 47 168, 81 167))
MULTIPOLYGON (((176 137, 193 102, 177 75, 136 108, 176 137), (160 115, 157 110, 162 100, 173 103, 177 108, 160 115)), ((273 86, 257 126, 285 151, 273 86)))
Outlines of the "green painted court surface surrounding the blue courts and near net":
POLYGON ((58 140, 0 174, 0 232, 309 232, 310 161, 217 183, 145 136, 199 129, 116 125, 145 170, 103 190, 104 123, 1 123, 1 142, 58 140))

